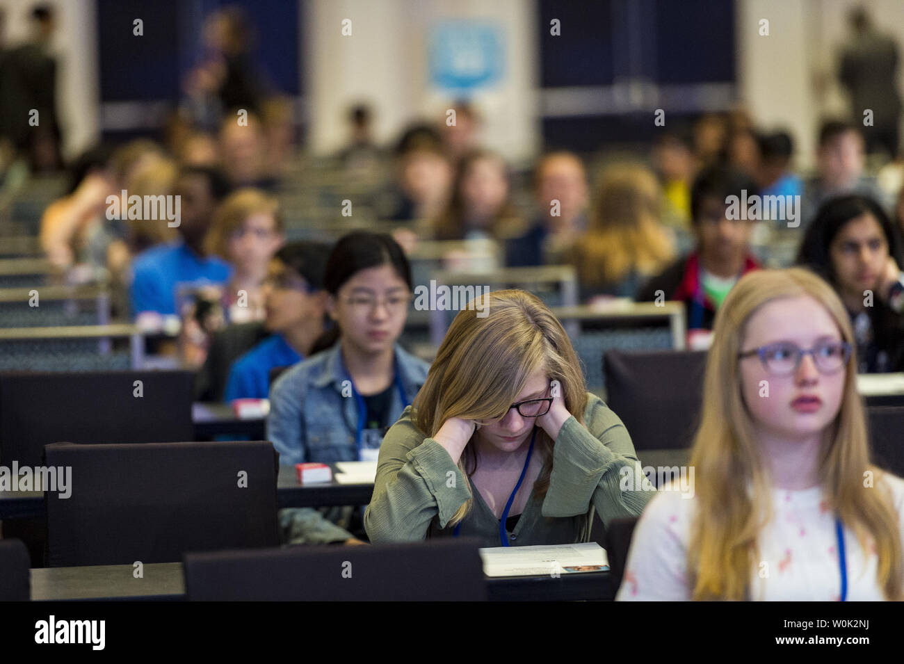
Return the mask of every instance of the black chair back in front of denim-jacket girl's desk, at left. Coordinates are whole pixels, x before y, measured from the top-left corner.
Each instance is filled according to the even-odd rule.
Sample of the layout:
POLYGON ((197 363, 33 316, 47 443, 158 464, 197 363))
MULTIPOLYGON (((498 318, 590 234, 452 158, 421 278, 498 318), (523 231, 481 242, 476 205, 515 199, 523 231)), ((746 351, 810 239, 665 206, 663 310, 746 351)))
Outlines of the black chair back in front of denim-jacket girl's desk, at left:
POLYGON ((68 444, 71 495, 45 491, 51 567, 168 563, 278 544, 277 454, 266 441, 68 444))

